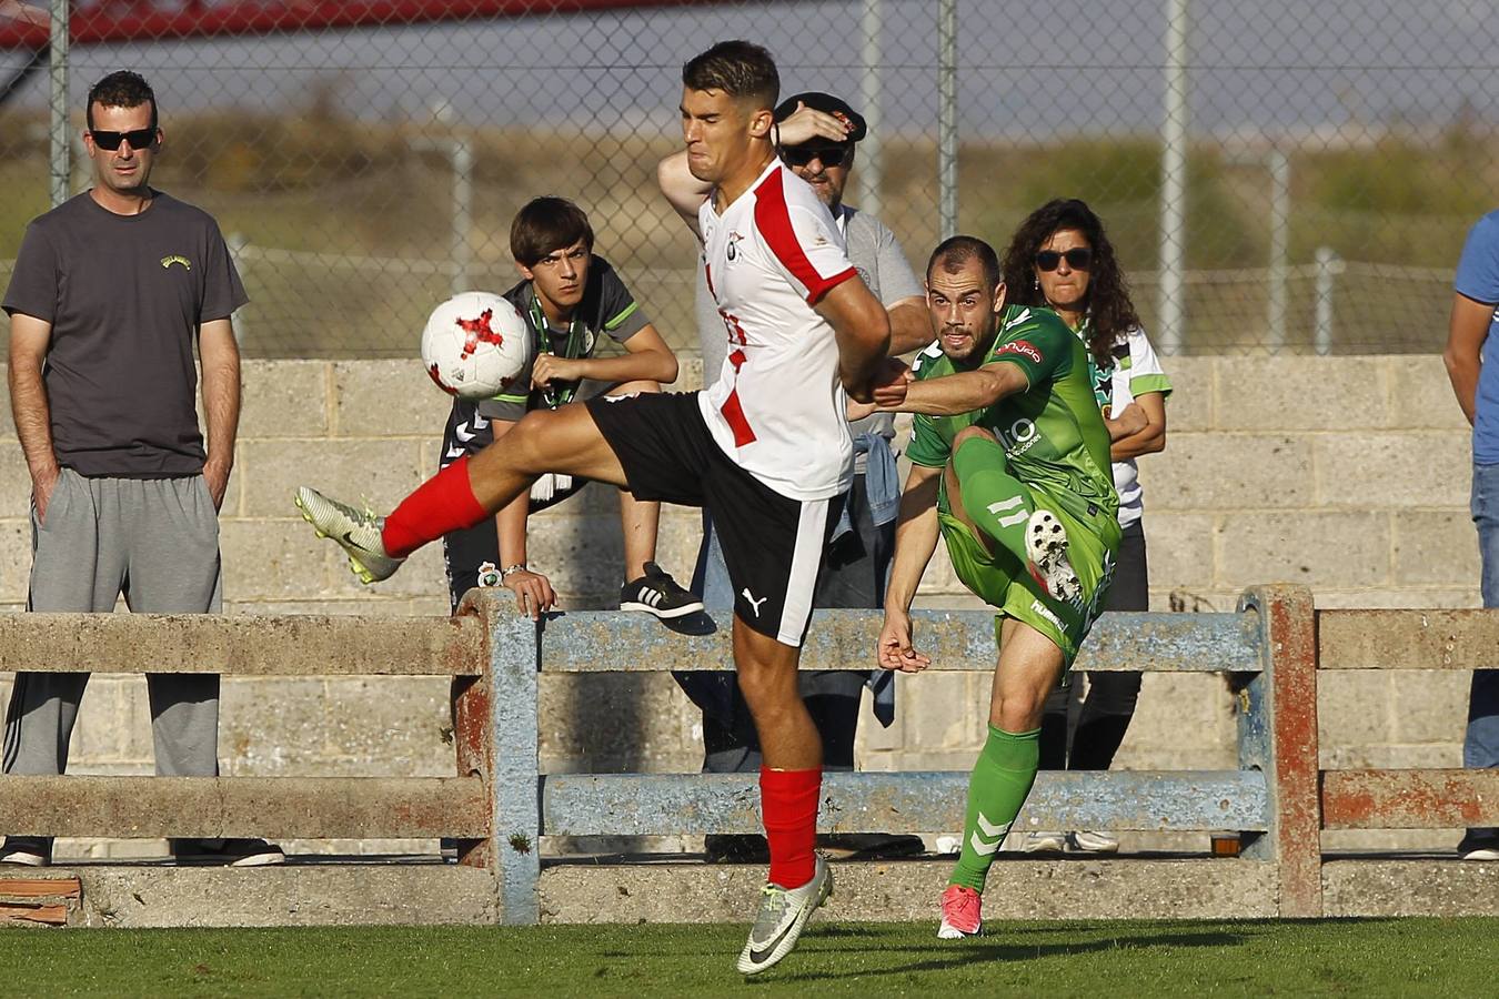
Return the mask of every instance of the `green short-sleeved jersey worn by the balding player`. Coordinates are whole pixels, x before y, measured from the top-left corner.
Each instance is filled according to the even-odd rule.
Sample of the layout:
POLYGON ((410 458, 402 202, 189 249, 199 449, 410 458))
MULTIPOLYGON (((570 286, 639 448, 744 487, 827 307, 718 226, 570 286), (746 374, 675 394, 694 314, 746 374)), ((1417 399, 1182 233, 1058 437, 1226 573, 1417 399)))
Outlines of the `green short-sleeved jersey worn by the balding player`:
MULTIPOLYGON (((917 415, 905 454, 914 464, 941 467, 952 457, 958 431, 977 424, 998 437, 1016 479, 1042 490, 1079 520, 1112 520, 1118 493, 1109 466, 1109 431, 1094 398, 1087 347, 1049 309, 1006 306, 982 364, 997 361, 1021 368, 1030 388, 958 416, 917 415)), ((934 343, 917 355, 911 370, 926 380, 967 368, 956 367, 934 343)))

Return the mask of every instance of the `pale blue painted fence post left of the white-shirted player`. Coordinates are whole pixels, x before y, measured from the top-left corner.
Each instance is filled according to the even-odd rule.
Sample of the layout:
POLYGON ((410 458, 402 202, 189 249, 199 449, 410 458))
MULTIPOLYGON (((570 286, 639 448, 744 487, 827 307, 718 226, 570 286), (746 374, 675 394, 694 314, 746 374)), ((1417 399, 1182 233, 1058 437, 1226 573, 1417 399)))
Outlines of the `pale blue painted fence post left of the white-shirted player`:
POLYGON ((541 761, 537 687, 541 626, 486 596, 490 625, 490 759, 501 921, 534 926, 541 917, 541 761))

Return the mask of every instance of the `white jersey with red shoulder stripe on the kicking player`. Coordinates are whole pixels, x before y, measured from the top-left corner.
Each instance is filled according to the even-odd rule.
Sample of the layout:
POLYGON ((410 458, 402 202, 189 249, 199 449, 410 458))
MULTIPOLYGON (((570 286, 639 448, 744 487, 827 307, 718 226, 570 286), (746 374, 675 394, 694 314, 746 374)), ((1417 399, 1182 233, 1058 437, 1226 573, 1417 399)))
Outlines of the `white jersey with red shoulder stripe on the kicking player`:
POLYGON ((806 181, 773 160, 724 214, 705 201, 697 225, 729 337, 718 379, 699 394, 708 430, 782 496, 842 493, 853 481, 847 397, 833 330, 812 309, 857 276, 838 223, 806 181))

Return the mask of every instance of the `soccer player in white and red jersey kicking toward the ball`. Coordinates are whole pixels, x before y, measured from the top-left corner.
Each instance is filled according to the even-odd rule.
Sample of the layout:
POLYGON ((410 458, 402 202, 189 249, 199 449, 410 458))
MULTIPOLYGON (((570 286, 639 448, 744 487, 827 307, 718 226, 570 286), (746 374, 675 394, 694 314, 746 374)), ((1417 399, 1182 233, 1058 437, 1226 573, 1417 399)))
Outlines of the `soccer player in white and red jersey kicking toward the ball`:
POLYGON ((769 52, 721 42, 682 67, 682 84, 690 168, 714 184, 693 213, 730 340, 718 380, 702 392, 529 412, 384 520, 307 487, 297 505, 373 580, 493 515, 546 472, 709 509, 736 593, 735 668, 764 755, 770 875, 738 963, 752 975, 791 950, 832 891, 812 852, 821 741, 796 668, 821 553, 853 476, 845 389, 860 401, 875 388, 881 400, 904 397, 907 371, 886 358, 884 307, 850 265, 827 207, 775 156, 779 78, 769 52))

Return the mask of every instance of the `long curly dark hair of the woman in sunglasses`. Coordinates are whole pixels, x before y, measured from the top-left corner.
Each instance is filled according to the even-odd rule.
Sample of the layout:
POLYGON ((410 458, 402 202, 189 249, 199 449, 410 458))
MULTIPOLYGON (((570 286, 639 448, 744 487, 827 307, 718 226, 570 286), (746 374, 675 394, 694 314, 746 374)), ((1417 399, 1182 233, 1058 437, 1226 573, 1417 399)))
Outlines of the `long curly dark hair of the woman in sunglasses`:
POLYGON ((1139 316, 1129 298, 1129 285, 1114 255, 1114 244, 1103 232, 1103 220, 1087 202, 1057 198, 1025 217, 1004 250, 1004 283, 1009 289, 1006 301, 1016 306, 1048 304, 1036 280, 1036 252, 1063 229, 1081 232, 1093 249, 1087 298, 1088 319, 1093 322, 1088 352, 1100 367, 1109 367, 1114 344, 1139 325, 1139 316))

